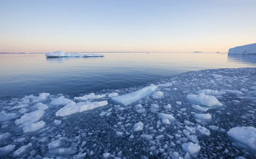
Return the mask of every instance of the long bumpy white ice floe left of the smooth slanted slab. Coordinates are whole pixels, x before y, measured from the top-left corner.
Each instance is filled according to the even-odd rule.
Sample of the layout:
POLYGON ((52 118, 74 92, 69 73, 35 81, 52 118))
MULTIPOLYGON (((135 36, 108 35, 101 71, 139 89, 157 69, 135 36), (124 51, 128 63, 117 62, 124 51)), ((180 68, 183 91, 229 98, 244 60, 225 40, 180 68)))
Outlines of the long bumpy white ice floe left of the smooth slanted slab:
POLYGON ((75 102, 70 102, 67 104, 65 107, 61 108, 58 110, 55 115, 56 116, 68 116, 74 113, 81 113, 86 110, 92 110, 97 107, 102 107, 107 105, 107 101, 96 101, 96 102, 80 102, 80 103, 75 103, 75 102))

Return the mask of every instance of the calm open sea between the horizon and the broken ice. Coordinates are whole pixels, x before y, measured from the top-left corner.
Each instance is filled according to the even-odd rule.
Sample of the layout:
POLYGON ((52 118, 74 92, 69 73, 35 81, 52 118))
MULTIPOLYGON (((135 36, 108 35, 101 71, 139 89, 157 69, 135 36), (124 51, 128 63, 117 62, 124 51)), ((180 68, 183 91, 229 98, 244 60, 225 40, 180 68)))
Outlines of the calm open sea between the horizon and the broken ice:
POLYGON ((145 84, 201 69, 256 67, 256 55, 102 53, 103 58, 0 54, 0 97, 38 93, 78 95, 145 84))

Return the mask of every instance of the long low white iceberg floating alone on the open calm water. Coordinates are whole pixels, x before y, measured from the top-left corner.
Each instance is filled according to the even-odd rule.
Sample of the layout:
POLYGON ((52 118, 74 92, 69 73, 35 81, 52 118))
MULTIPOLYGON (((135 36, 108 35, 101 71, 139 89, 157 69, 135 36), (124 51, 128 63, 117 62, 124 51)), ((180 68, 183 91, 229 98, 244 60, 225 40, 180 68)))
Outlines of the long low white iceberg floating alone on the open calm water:
POLYGON ((56 52, 47 52, 47 58, 62 58, 62 57, 104 57, 105 55, 100 54, 80 54, 80 53, 66 53, 61 50, 56 52))

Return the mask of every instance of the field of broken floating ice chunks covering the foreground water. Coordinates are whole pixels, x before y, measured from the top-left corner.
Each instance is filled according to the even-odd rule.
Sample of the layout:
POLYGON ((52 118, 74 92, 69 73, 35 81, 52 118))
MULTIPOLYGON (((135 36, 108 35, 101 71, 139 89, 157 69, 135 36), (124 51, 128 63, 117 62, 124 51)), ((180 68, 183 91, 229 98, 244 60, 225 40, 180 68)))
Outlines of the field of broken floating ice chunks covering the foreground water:
MULTIPOLYGON (((76 89, 76 88, 74 88, 76 89)), ((256 158, 256 68, 137 87, 0 98, 0 157, 256 158)))

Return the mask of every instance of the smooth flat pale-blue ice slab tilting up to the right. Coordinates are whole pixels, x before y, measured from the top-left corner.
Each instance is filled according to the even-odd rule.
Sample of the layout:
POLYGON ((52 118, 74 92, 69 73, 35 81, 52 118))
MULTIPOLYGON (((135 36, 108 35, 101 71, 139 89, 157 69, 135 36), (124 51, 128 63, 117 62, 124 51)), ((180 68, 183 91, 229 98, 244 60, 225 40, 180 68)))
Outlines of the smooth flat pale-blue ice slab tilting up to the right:
POLYGON ((147 95, 150 95, 156 89, 157 89, 157 86, 155 86, 155 85, 148 86, 148 87, 144 87, 144 88, 137 90, 135 92, 132 92, 132 93, 113 97, 112 100, 117 101, 117 102, 122 103, 125 106, 127 106, 128 104, 131 104, 135 101, 140 100, 141 98, 143 98, 147 95))

